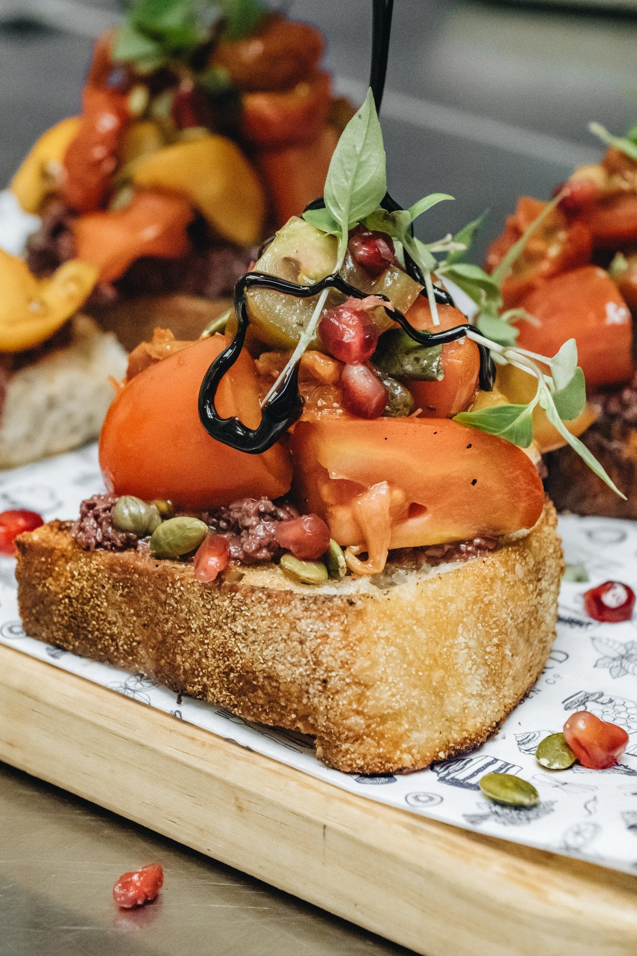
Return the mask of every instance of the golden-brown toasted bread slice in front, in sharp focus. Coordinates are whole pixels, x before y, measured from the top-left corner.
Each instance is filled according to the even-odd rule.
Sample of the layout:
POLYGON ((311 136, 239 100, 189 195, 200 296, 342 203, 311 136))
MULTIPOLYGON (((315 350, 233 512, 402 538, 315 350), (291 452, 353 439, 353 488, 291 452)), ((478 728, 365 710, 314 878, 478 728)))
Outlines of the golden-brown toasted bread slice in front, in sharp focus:
POLYGON ((563 574, 556 514, 483 557, 393 587, 294 584, 274 564, 87 553, 53 522, 17 539, 27 634, 316 738, 342 771, 413 771, 482 743, 537 680, 563 574))

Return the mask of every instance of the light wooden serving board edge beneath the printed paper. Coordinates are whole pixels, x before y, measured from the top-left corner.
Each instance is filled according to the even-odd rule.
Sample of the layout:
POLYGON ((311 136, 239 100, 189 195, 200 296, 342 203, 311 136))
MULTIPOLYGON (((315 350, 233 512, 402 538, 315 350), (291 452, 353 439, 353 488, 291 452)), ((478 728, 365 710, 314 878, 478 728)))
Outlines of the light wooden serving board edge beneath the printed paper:
POLYGON ((637 877, 346 793, 2 645, 0 759, 424 956, 637 952, 637 877))

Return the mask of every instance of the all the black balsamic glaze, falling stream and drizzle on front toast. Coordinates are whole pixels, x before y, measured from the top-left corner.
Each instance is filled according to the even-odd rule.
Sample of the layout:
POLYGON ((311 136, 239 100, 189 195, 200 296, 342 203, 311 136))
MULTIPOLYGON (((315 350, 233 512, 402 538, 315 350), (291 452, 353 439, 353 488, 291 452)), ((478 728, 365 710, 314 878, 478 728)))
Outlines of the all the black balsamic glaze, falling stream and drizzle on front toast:
MULTIPOLYGON (((377 112, 380 111, 387 74, 392 12, 393 0, 373 0, 370 86, 372 87, 377 112)), ((388 212, 395 212, 402 208, 402 206, 398 206, 389 193, 386 193, 381 205, 388 212)), ((310 203, 307 208, 318 209, 324 206, 325 201, 321 197, 310 203)), ((259 257, 270 242, 271 239, 265 240, 259 251, 259 257)), ((407 252, 405 252, 405 271, 419 285, 424 285, 424 276, 420 268, 407 252)), ((288 282, 286 279, 267 275, 265 272, 247 272, 239 280, 234 292, 234 308, 238 322, 237 333, 230 344, 212 362, 205 374, 199 393, 199 417, 207 433, 218 442, 222 442, 223 445, 230 445, 239 451, 257 455, 274 445, 289 426, 301 417, 303 399, 299 394, 299 363, 297 362, 296 365, 287 370, 286 377, 281 381, 276 392, 262 405, 261 423, 257 428, 248 428, 238 418, 224 419, 217 411, 215 406, 217 389, 223 376, 237 361, 244 347, 245 333, 249 324, 246 293, 250 289, 269 289, 278 293, 294 295, 297 298, 311 298, 312 295, 317 295, 324 289, 336 289, 338 292, 351 295, 354 298, 365 298, 368 293, 363 293, 360 289, 351 286, 338 272, 333 272, 310 286, 297 285, 295 282, 288 282)), ((421 294, 426 293, 423 291, 421 294)), ((437 286, 434 286, 434 296, 439 305, 454 305, 451 295, 443 289, 438 289, 437 286)), ((384 295, 379 297, 389 301, 384 295)), ((386 312, 409 337, 422 345, 445 345, 448 342, 465 337, 467 332, 473 328, 467 322, 443 332, 419 332, 414 329, 414 326, 402 313, 397 310, 392 312, 390 309, 386 309, 386 312)), ((480 353, 479 385, 483 390, 490 391, 495 380, 495 365, 489 350, 485 346, 478 345, 478 349, 480 353)))

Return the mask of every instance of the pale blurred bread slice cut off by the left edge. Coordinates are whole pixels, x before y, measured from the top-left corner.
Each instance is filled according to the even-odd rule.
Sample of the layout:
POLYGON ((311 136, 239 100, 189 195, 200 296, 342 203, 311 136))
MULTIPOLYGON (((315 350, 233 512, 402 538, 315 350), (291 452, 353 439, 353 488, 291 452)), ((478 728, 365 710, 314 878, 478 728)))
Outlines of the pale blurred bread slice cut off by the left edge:
POLYGON ((123 378, 126 353, 92 318, 75 315, 71 340, 11 372, 0 415, 0 468, 27 465, 95 439, 123 378))

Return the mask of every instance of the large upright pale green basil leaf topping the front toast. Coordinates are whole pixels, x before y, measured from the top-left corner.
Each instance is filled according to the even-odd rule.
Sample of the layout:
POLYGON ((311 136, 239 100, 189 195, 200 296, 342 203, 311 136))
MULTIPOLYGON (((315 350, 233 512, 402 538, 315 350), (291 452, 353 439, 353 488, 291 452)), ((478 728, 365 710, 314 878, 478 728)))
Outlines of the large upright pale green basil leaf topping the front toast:
POLYGON ((347 248, 350 228, 380 206, 386 192, 383 134, 368 90, 336 144, 325 184, 325 205, 342 230, 339 257, 347 248))

